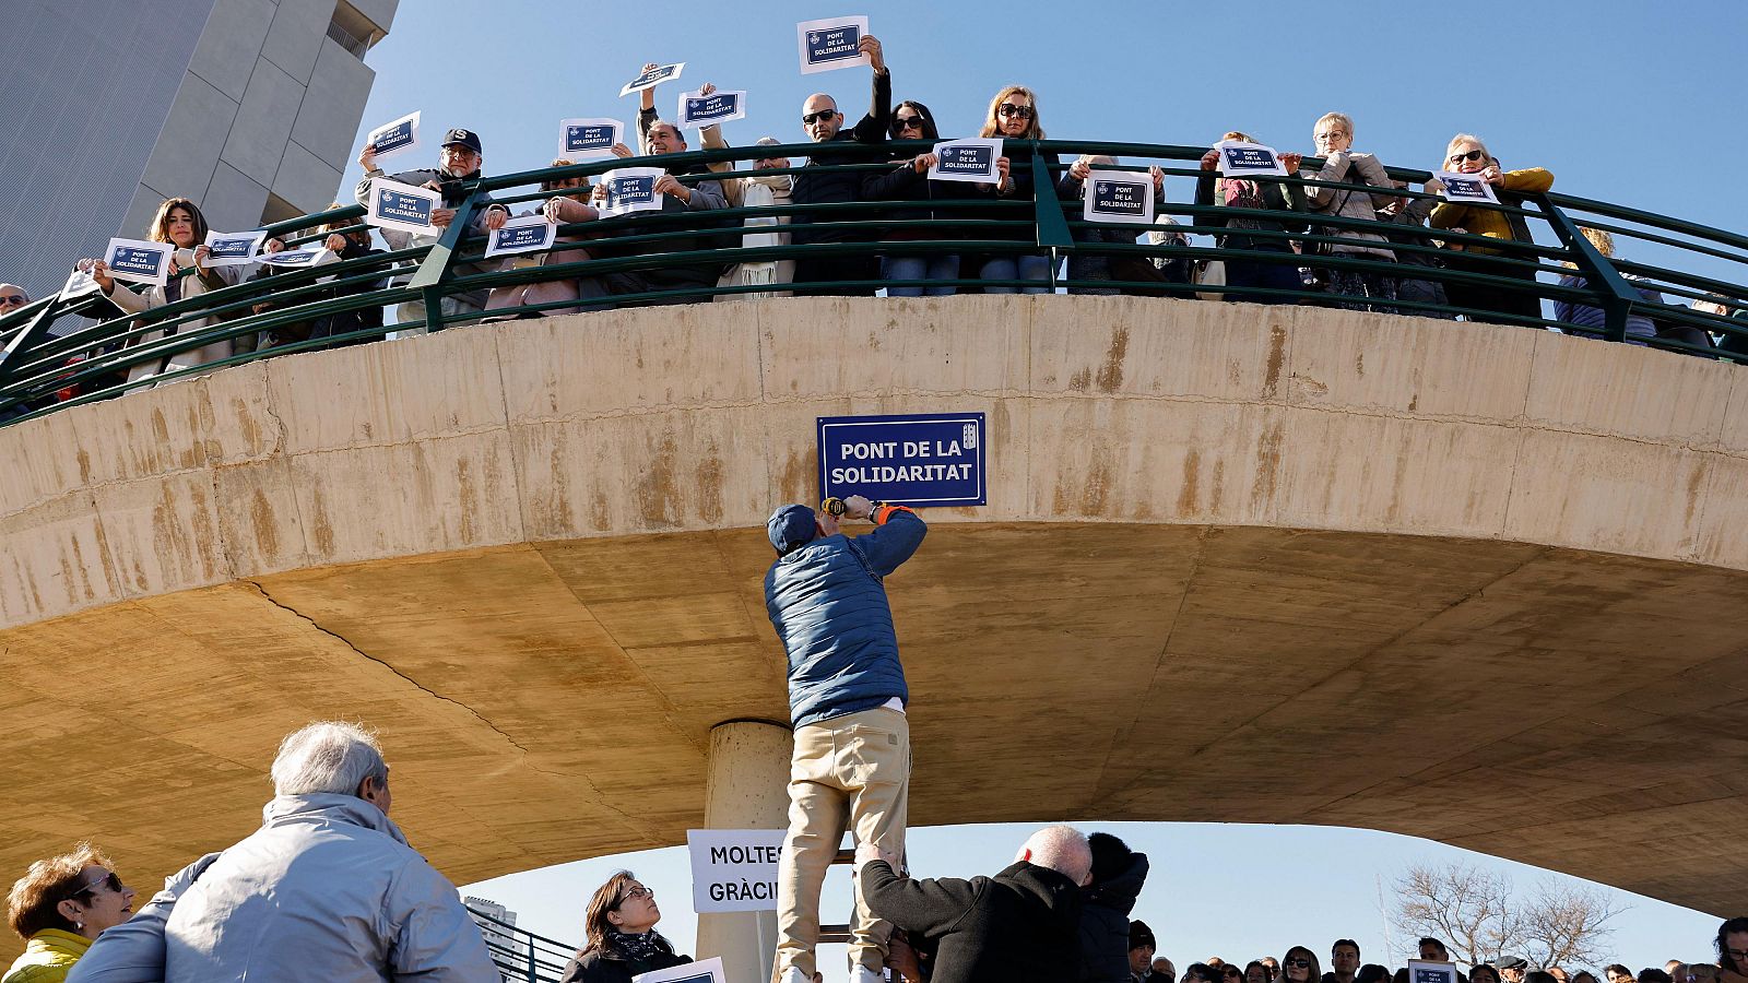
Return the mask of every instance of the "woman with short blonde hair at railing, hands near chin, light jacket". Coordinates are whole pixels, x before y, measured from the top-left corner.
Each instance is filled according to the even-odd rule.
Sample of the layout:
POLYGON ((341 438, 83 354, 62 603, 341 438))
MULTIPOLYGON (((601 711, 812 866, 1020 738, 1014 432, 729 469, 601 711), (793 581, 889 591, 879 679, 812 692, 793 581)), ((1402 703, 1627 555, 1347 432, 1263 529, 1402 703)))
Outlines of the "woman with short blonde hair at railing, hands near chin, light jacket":
MULTIPOLYGON (((1299 171, 1299 177, 1332 184, 1351 184, 1377 189, 1390 189, 1390 175, 1384 164, 1370 154, 1353 152, 1353 119, 1341 112, 1325 112, 1318 117, 1311 131, 1316 152, 1323 156, 1323 168, 1318 171, 1299 171)), ((1355 187, 1325 187, 1320 184, 1304 185, 1306 210, 1316 215, 1335 215, 1341 219, 1377 220, 1377 210, 1398 201, 1395 194, 1381 191, 1360 191, 1355 187)), ((1363 233, 1360 229, 1314 226, 1325 236, 1341 236, 1342 243, 1308 243, 1309 255, 1346 255, 1369 259, 1372 262, 1395 262, 1397 254, 1388 247, 1381 233, 1363 233), (1377 245, 1367 245, 1377 243, 1377 245)), ((1316 269, 1313 266, 1313 269, 1316 269)), ((1330 294, 1330 304, 1349 311, 1395 313, 1390 301, 1397 299, 1397 278, 1388 273, 1358 269, 1318 269, 1321 282, 1330 294)))

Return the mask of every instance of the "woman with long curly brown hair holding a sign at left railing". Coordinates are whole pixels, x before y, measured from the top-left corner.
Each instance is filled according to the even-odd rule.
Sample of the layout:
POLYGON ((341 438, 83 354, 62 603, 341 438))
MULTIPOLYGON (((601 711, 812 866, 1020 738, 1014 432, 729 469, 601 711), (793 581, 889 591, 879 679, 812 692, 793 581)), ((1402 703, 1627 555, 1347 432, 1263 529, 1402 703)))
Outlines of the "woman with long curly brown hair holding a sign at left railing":
MULTIPOLYGON (((129 290, 128 287, 117 289, 115 278, 110 276, 108 266, 101 259, 79 261, 79 268, 91 273, 91 278, 96 280, 103 296, 124 313, 143 313, 152 308, 161 308, 164 304, 198 297, 210 290, 220 290, 224 287, 241 283, 252 266, 205 266, 206 259, 212 255, 212 250, 206 248, 206 217, 201 215, 199 206, 187 198, 170 198, 157 206, 157 215, 152 217, 147 240, 177 247, 177 252, 170 259, 170 280, 163 287, 154 283, 140 294, 129 290)), ((218 318, 215 317, 184 320, 182 324, 175 324, 168 329, 159 327, 156 331, 147 331, 138 339, 129 341, 129 345, 152 345, 173 334, 196 334, 215 327, 217 324, 218 318)), ((133 366, 128 369, 128 381, 135 383, 163 373, 192 369, 196 366, 229 359, 231 355, 232 345, 229 338, 212 341, 189 352, 173 352, 161 359, 133 366)))

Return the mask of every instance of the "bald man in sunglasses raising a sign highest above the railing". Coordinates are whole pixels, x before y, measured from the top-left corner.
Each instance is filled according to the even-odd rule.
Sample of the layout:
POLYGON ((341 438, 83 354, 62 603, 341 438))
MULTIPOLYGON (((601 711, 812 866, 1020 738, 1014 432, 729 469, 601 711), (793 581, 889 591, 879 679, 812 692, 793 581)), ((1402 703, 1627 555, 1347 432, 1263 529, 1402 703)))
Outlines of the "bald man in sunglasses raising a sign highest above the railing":
MULTIPOLYGON (((891 72, 886 70, 886 58, 874 35, 862 38, 862 52, 874 66, 874 98, 867 115, 853 128, 844 128, 844 114, 837 108, 837 100, 825 93, 813 93, 801 103, 801 128, 808 138, 820 143, 808 157, 808 164, 795 175, 795 189, 790 192, 794 205, 830 205, 843 201, 862 201, 862 171, 829 171, 822 164, 865 164, 884 163, 884 156, 857 152, 846 143, 884 143, 891 126, 891 72), (834 147, 836 145, 836 147, 834 147)), ((850 222, 871 219, 869 213, 834 213, 834 215, 797 215, 790 224, 790 241, 809 243, 857 243, 872 241, 869 229, 834 229, 829 222, 850 222)), ((795 294, 860 294, 874 296, 879 280, 879 259, 874 255, 857 257, 809 257, 795 261, 795 294), (865 287, 808 289, 804 283, 827 283, 834 280, 862 280, 865 287)))

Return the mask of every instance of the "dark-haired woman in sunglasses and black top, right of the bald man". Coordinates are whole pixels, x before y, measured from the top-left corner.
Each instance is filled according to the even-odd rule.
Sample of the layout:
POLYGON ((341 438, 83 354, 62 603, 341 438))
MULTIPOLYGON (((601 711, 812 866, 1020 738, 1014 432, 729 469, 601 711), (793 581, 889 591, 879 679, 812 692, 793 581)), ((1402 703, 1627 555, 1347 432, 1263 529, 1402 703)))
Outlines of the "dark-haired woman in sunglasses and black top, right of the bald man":
MULTIPOLYGON (((928 107, 916 101, 905 100, 893 107, 891 110, 891 138, 893 140, 940 140, 940 131, 935 129, 935 115, 928 112, 928 107)), ((965 185, 951 180, 928 180, 928 168, 935 164, 935 154, 930 147, 919 147, 919 154, 904 159, 902 164, 891 173, 874 175, 862 185, 864 201, 918 201, 925 203, 919 208, 902 208, 902 210, 883 210, 881 215, 891 220, 926 220, 926 219, 953 219, 956 217, 951 210, 933 208, 926 203, 933 199, 953 199, 965 198, 965 185)), ((884 241, 890 243, 914 243, 914 241, 939 241, 939 240, 956 240, 963 238, 958 233, 937 231, 930 227, 900 227, 886 233, 884 241)), ((940 254, 940 252, 886 252, 881 255, 881 278, 886 282, 893 280, 958 280, 960 278, 960 255, 940 254)), ((946 297, 953 294, 953 287, 886 287, 888 297, 946 297)))

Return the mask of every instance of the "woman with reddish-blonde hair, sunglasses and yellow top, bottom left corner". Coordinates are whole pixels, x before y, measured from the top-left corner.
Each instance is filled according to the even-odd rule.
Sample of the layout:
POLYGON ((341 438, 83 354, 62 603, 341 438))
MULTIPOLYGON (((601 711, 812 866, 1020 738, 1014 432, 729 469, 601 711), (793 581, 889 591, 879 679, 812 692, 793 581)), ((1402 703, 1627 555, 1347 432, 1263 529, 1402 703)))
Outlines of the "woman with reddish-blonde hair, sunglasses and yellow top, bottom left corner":
POLYGON ((26 945, 0 983, 61 983, 103 929, 131 915, 133 890, 91 843, 37 861, 7 896, 7 922, 26 945))

